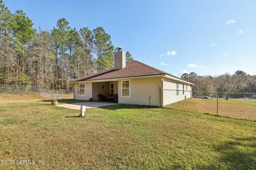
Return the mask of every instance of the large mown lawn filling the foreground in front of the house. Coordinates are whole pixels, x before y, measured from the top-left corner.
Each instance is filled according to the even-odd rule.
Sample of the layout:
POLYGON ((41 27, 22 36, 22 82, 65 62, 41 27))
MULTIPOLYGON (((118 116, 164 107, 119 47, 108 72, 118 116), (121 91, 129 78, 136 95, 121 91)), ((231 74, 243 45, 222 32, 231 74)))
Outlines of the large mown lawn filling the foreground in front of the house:
POLYGON ((0 98, 0 169, 255 169, 256 122, 169 108, 0 98), (72 117, 73 116, 73 117, 72 117))

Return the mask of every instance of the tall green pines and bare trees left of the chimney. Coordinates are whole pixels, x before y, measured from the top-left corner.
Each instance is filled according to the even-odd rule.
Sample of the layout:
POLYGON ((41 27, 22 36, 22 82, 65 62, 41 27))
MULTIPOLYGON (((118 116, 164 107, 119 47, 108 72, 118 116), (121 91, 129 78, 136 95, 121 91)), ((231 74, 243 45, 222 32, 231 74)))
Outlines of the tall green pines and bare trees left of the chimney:
POLYGON ((77 30, 62 18, 50 31, 35 29, 26 13, 0 1, 0 84, 69 88, 72 79, 112 67, 117 49, 102 27, 77 30))

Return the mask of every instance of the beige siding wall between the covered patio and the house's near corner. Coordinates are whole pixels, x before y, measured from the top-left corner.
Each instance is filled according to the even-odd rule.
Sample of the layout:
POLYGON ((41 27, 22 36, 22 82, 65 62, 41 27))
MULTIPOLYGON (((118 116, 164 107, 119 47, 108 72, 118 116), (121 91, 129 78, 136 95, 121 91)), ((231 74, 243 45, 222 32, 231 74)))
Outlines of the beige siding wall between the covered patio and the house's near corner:
POLYGON ((159 105, 159 87, 162 88, 161 77, 127 80, 130 80, 130 97, 122 97, 122 80, 118 80, 118 103, 149 105, 149 96, 151 96, 150 105, 159 105))

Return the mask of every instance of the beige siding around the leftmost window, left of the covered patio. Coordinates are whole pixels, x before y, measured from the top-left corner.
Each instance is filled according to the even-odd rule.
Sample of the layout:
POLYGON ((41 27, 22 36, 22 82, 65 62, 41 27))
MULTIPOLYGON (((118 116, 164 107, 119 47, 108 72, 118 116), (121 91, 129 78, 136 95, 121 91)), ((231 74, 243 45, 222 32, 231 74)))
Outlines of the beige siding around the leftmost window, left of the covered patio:
POLYGON ((79 83, 74 83, 74 99, 76 100, 89 100, 92 98, 92 83, 85 82, 85 95, 79 95, 79 83))

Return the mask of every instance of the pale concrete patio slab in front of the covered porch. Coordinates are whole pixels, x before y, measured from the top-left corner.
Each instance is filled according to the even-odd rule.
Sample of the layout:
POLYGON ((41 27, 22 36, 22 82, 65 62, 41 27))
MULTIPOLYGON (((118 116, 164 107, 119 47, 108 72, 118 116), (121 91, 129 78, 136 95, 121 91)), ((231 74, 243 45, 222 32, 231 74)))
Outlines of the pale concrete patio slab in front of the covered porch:
POLYGON ((60 105, 57 105, 57 106, 80 110, 81 106, 85 106, 86 108, 93 108, 93 107, 110 106, 110 105, 118 105, 118 104, 117 103, 103 103, 103 102, 93 101, 93 102, 60 104, 60 105))

